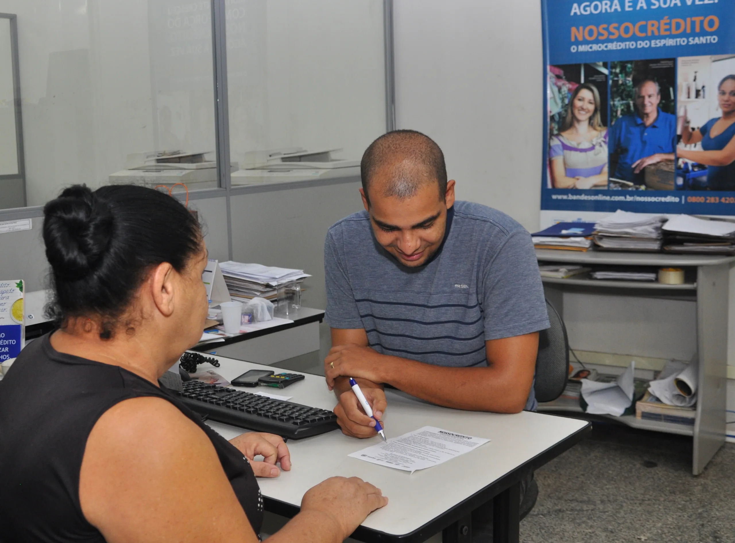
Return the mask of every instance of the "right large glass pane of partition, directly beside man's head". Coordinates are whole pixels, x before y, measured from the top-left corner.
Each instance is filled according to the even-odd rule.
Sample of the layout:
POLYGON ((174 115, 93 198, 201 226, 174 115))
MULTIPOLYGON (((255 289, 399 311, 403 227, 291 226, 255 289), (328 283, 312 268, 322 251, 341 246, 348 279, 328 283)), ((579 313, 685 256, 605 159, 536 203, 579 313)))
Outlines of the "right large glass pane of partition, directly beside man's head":
POLYGON ((386 130, 376 0, 231 0, 232 185, 356 174, 386 130))

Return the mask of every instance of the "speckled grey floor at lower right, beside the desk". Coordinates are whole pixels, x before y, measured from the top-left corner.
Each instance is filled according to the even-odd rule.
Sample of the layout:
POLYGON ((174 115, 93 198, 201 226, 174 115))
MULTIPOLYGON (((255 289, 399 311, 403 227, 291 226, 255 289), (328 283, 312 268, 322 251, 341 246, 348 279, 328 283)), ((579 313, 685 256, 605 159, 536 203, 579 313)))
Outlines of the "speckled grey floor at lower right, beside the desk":
POLYGON ((735 444, 692 475, 692 440, 595 422, 536 472, 524 543, 735 542, 735 444))

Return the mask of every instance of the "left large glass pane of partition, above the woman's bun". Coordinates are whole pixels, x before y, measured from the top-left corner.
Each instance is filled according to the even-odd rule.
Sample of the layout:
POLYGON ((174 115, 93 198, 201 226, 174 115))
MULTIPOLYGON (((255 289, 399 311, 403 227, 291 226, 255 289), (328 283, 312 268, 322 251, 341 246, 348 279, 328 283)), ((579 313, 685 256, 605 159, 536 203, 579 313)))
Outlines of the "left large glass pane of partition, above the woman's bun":
POLYGON ((18 20, 26 205, 79 182, 217 186, 209 1, 0 10, 18 20))

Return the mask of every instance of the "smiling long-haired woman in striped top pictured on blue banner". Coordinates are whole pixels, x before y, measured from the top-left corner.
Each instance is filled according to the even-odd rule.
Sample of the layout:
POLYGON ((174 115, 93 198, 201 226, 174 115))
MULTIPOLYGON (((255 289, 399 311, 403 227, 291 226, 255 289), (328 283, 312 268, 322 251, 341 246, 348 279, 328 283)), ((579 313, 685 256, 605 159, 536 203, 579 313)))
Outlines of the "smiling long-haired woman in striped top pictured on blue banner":
POLYGON ((549 141, 553 188, 607 185, 607 129, 600 118, 600 93, 583 83, 572 93, 559 134, 549 141))

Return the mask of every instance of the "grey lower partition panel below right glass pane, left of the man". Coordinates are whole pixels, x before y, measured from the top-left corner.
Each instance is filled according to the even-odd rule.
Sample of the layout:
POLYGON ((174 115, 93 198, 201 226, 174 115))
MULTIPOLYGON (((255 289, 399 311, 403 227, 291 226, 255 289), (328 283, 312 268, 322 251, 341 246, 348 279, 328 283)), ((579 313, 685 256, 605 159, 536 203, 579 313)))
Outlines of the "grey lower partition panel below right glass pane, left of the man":
POLYGON ((232 196, 232 253, 237 262, 304 269, 303 303, 326 308, 324 236, 362 209, 359 177, 327 185, 232 196))

